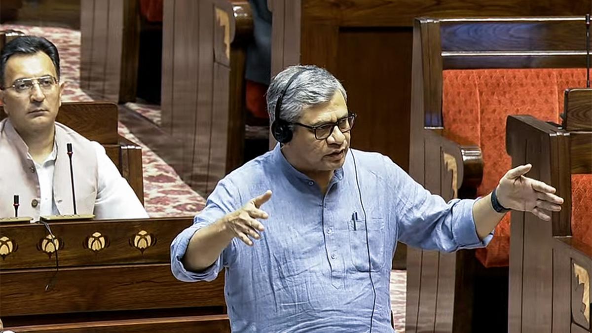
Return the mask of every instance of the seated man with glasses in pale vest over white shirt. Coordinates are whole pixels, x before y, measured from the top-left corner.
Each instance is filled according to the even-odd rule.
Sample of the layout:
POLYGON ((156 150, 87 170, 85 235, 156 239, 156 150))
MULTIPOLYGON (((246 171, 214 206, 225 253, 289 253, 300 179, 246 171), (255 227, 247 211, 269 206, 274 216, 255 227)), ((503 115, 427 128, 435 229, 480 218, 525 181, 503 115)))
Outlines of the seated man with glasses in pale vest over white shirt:
POLYGON ((78 214, 97 219, 148 217, 125 178, 97 142, 56 123, 64 88, 56 46, 43 37, 18 37, 0 56, 0 217, 72 214, 67 145, 72 144, 78 214))

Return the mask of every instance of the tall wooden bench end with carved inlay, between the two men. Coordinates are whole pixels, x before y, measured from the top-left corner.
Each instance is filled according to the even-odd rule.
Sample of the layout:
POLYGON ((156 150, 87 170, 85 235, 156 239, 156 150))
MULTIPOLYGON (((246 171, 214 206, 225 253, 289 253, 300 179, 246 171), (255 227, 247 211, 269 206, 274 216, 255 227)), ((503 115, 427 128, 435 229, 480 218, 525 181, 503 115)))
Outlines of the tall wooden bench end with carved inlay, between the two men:
POLYGON ((163 9, 162 131, 169 143, 155 151, 207 195, 242 164, 252 13, 246 1, 176 0, 163 9))

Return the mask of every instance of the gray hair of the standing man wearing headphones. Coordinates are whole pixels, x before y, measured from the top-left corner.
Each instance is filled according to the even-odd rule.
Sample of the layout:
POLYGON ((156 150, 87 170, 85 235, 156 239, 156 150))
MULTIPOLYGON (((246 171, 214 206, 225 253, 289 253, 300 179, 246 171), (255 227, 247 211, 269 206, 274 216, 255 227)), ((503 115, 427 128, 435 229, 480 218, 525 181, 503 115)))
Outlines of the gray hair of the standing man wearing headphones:
POLYGON ((267 89, 267 111, 269 121, 275 121, 275 104, 279 95, 284 91, 289 79, 303 71, 288 87, 282 100, 279 116, 282 120, 295 122, 300 120, 301 112, 305 107, 327 103, 333 98, 336 91, 340 91, 343 99, 348 101, 348 94, 339 80, 324 68, 314 65, 289 66, 276 75, 267 89), (308 69, 303 71, 303 69, 308 69))

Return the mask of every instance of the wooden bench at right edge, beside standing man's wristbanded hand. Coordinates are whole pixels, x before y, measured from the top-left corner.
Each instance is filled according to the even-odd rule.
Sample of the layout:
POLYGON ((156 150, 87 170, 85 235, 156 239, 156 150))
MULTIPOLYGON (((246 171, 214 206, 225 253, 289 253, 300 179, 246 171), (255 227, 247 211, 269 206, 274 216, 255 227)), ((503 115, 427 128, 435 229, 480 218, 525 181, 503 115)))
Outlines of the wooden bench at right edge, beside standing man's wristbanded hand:
POLYGON ((512 163, 532 163, 531 172, 565 199, 551 223, 529 214, 512 217, 511 240, 524 239, 510 249, 510 283, 523 289, 510 294, 510 304, 522 305, 513 306, 522 311, 521 321, 510 321, 516 331, 590 332, 592 89, 570 88, 564 94, 561 124, 532 116, 507 120, 512 163), (514 257, 523 257, 522 265, 514 257))

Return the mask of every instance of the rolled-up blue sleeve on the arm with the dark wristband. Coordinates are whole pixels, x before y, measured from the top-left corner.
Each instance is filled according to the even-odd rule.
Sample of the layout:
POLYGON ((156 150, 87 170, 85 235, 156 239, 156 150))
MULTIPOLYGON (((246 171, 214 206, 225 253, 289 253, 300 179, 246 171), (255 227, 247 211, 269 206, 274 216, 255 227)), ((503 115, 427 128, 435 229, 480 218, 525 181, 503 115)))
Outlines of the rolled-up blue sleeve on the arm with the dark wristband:
POLYGON ((446 203, 397 165, 394 167, 391 174, 398 241, 417 248, 445 252, 480 248, 489 244, 493 232, 484 239, 477 235, 473 219, 476 199, 453 199, 446 203))

